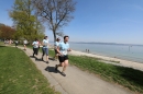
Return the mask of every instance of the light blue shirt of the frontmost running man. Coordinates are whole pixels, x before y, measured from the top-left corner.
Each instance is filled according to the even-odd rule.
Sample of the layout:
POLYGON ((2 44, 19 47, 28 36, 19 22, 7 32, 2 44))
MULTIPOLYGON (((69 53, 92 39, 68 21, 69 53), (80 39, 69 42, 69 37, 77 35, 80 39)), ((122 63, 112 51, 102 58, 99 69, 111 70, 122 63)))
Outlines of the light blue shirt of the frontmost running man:
POLYGON ((58 47, 59 47, 59 51, 63 54, 63 55, 67 55, 67 50, 68 50, 68 48, 69 48, 69 44, 68 43, 59 43, 59 45, 58 45, 58 47))

